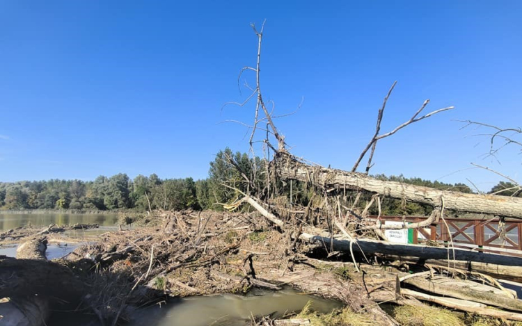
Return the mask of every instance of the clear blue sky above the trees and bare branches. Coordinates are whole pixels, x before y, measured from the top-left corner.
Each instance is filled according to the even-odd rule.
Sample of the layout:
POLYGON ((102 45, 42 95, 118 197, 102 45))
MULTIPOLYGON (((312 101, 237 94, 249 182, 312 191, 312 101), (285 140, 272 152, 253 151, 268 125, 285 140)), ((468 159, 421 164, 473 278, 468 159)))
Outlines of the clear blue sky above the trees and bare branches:
MULTIPOLYGON (((350 169, 374 131, 449 111, 379 142, 373 173, 489 190, 522 181, 515 147, 484 158, 483 129, 520 127, 521 1, 1 1, 0 181, 125 172, 207 176, 253 120, 237 74, 255 64, 249 27, 267 19, 262 90, 292 152, 350 169)), ((252 76, 245 76, 253 83, 252 76)), ((243 81, 243 80, 242 80, 243 81)))

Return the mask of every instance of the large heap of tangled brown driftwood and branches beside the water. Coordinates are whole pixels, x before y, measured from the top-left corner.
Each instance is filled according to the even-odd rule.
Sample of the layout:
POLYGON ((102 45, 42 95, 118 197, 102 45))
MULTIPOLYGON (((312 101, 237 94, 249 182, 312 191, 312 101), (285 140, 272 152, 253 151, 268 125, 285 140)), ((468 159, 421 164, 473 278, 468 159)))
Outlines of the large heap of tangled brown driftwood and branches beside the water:
MULTIPOLYGON (((300 230, 283 233, 256 214, 157 212, 149 219, 149 225, 106 232, 97 236, 96 241, 78 247, 66 259, 30 268, 49 269, 56 265, 56 270, 61 271, 65 267, 72 275, 71 282, 77 286, 74 289, 77 302, 72 303, 78 304, 81 311, 97 316, 100 325, 132 320, 137 307, 166 298, 223 293, 242 295, 253 288, 278 291, 284 286, 292 286, 302 293, 319 295, 344 305, 335 315, 338 317, 331 319, 334 321, 328 323, 325 321, 328 318, 317 317, 324 321, 317 325, 353 325, 335 320, 345 318, 340 316, 356 316, 354 320, 367 323, 359 325, 395 326, 399 325, 395 319, 396 309, 384 311, 380 306, 382 302, 393 304, 393 307, 429 308, 414 296, 404 294, 411 290, 397 290, 397 279, 404 278, 400 283, 408 283, 409 273, 415 272, 420 272, 415 274, 420 279, 432 273, 430 282, 435 282, 436 277, 448 276, 448 270, 381 260, 370 252, 366 257, 356 257, 357 265, 354 266, 351 257, 326 250, 328 243, 310 245, 300 241, 295 236, 300 230)), ((52 236, 42 231, 45 230, 38 236, 52 236)), ((19 270, 28 268, 22 261, 10 263, 19 270)), ((0 275, 6 277, 3 284, 12 284, 7 279, 13 277, 13 270, 16 269, 0 275)), ((51 270, 49 272, 51 274, 47 275, 54 275, 51 270)), ((42 282, 39 275, 33 277, 35 279, 27 279, 24 284, 42 282)), ((459 275, 453 274, 452 279, 454 277, 459 278, 459 275)), ((473 277, 477 278, 477 275, 473 277)), ((63 282, 67 279, 45 279, 40 297, 49 295, 52 300, 71 300, 70 297, 61 298, 56 292, 63 282)), ((20 288, 8 285, 1 288, 0 296, 16 296, 20 291, 20 288)), ((31 291, 31 288, 24 291, 31 291)), ((490 287, 487 291, 496 291, 497 298, 513 295, 500 288, 490 287)), ((312 313, 308 312, 308 315, 312 313)), ((406 312, 402 311, 402 314, 406 312)), ((308 319, 312 319, 311 315, 308 319)), ((267 325, 263 320, 266 321, 267 316, 253 318, 251 325, 267 325)), ((462 324, 456 325, 473 325, 460 320, 462 324)))

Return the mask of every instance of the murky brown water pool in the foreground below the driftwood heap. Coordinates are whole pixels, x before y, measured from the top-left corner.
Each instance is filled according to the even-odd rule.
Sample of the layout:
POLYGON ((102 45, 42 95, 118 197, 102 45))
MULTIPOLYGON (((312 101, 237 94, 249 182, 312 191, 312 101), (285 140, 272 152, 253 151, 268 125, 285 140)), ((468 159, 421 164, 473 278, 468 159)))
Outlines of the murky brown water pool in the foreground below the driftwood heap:
MULTIPOLYGON (((340 302, 326 300, 313 295, 299 293, 292 288, 282 291, 255 290, 248 295, 223 294, 171 299, 168 302, 132 314, 128 326, 245 326, 250 325, 251 316, 272 318, 284 316, 292 311, 299 312, 312 302, 315 311, 329 313, 342 307, 340 302)), ((93 316, 78 313, 55 313, 49 326, 97 325, 93 316)))

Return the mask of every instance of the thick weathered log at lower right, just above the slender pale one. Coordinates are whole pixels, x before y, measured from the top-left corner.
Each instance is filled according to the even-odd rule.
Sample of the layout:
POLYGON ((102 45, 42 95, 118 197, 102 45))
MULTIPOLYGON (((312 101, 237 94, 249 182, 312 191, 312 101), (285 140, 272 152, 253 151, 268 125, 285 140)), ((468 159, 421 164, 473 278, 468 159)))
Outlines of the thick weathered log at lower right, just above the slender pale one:
MULTIPOLYGON (((405 284, 420 288, 422 291, 434 293, 436 295, 444 295, 461 300, 480 302, 489 306, 510 309, 514 311, 522 311, 522 300, 508 298, 504 295, 498 295, 488 291, 477 291, 475 288, 463 286, 455 286, 455 284, 446 285, 439 280, 432 282, 427 279, 411 278, 404 280, 405 284)), ((402 291, 402 290, 401 290, 402 291)))

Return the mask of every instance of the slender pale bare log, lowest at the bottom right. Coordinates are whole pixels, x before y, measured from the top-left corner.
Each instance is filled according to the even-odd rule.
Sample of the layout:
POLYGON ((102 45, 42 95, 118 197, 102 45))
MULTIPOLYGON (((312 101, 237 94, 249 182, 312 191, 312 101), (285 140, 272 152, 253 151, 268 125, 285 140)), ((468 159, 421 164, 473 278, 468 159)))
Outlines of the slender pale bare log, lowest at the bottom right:
POLYGON ((412 291, 407 288, 402 289, 401 293, 403 295, 409 295, 412 298, 416 298, 418 300, 434 302, 434 303, 440 304, 441 306, 444 306, 444 307, 457 309, 457 310, 461 310, 461 311, 467 311, 470 313, 477 313, 478 315, 482 315, 482 316, 522 321, 522 314, 520 314, 520 313, 513 313, 513 312, 509 312, 509 311, 489 309, 484 304, 480 304, 477 306, 476 302, 468 302, 468 301, 464 301, 464 300, 438 297, 436 295, 429 295, 426 293, 412 291))

